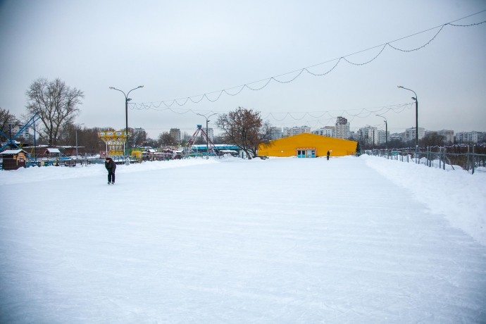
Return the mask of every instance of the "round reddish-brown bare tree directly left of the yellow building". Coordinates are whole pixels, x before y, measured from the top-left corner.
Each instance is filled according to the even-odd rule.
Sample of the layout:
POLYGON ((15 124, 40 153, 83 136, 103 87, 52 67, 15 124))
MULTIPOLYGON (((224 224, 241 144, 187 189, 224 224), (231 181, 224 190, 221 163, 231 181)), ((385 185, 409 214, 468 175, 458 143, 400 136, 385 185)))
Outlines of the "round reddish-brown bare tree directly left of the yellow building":
POLYGON ((259 144, 270 141, 270 123, 263 122, 260 112, 238 107, 218 117, 216 126, 223 130, 228 143, 235 144, 248 156, 257 155, 259 144))

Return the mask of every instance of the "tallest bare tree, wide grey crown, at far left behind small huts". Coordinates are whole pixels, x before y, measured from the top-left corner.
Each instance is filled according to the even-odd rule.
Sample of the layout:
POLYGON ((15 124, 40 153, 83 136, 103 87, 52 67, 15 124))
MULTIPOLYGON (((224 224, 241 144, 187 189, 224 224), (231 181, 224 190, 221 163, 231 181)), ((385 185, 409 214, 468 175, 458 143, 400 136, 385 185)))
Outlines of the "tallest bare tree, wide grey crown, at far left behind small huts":
POLYGON ((44 78, 35 80, 27 92, 27 111, 38 113, 44 129, 42 132, 49 145, 56 145, 61 127, 73 123, 79 113, 78 105, 85 97, 81 90, 71 89, 60 79, 49 81, 44 78))

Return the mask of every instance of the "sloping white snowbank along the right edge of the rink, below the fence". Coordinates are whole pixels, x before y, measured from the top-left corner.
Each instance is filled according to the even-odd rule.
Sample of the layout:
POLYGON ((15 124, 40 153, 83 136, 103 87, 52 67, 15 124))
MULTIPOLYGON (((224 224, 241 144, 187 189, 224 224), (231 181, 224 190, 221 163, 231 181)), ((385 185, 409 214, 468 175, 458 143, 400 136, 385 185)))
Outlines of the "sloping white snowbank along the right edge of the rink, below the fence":
POLYGON ((397 185, 409 189, 432 213, 486 245, 486 174, 428 168, 378 156, 363 155, 366 164, 397 185))

